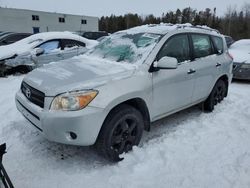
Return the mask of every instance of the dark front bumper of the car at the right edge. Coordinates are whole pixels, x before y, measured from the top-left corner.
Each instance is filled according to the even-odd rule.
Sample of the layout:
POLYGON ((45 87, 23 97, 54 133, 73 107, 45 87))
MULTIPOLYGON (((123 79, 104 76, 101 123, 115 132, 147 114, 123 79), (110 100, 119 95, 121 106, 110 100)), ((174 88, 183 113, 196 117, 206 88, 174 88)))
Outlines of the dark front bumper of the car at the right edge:
POLYGON ((233 78, 240 80, 250 80, 250 68, 242 68, 243 63, 233 64, 233 78))

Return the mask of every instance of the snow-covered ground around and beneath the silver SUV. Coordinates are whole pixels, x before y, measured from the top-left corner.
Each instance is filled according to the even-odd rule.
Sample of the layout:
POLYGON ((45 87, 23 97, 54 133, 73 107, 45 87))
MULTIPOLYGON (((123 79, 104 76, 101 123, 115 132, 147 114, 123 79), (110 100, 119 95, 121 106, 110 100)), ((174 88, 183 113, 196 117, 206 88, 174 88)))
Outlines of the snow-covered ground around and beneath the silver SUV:
POLYGON ((250 83, 233 83, 213 113, 193 107, 154 123, 140 147, 111 164, 91 147, 40 136, 15 108, 21 79, 0 79, 0 143, 16 187, 250 187, 250 83))

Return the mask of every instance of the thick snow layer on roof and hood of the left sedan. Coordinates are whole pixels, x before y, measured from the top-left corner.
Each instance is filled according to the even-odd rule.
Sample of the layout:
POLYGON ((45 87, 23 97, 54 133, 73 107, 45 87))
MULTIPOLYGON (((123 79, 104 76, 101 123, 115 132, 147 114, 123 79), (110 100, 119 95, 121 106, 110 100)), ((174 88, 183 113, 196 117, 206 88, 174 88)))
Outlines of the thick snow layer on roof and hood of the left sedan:
POLYGON ((97 41, 83 38, 71 32, 46 32, 31 35, 13 44, 0 46, 0 60, 10 58, 14 55, 28 54, 37 45, 51 39, 72 39, 78 40, 86 44, 86 48, 90 49, 98 44, 97 41))

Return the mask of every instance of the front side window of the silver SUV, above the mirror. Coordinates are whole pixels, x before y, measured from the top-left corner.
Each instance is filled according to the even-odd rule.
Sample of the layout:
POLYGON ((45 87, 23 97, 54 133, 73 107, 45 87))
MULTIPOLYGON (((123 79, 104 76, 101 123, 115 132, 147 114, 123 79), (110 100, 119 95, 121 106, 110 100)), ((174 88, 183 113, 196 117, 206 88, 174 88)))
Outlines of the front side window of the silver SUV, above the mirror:
POLYGON ((171 37, 160 50, 157 59, 162 57, 174 57, 179 63, 190 60, 188 36, 186 34, 171 37))

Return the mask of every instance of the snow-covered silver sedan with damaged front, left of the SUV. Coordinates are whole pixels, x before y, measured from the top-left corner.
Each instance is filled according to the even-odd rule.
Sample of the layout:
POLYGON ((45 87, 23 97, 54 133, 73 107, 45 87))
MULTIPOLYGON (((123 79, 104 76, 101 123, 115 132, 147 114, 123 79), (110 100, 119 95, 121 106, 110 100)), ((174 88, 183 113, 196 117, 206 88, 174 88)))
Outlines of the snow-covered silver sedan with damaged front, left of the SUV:
POLYGON ((85 53, 97 43, 70 32, 35 34, 0 46, 0 75, 27 72, 53 61, 68 59, 85 53))

